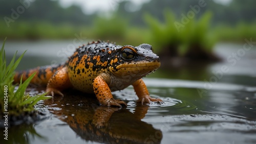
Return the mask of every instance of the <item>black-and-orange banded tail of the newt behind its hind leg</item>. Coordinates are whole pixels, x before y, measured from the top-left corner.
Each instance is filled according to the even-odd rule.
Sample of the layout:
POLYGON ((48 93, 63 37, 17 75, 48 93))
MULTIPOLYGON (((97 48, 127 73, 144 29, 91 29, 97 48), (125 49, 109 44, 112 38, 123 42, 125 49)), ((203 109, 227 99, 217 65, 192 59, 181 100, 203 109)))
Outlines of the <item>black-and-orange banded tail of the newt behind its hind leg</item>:
POLYGON ((57 70, 63 68, 64 66, 65 66, 65 64, 49 65, 49 66, 41 66, 41 67, 36 67, 33 69, 28 69, 28 70, 23 70, 23 71, 17 71, 15 73, 13 83, 19 83, 21 78, 22 78, 22 81, 24 82, 34 72, 36 72, 35 76, 30 81, 30 83, 35 84, 35 85, 46 86, 48 84, 48 81, 52 77, 52 75, 57 70))

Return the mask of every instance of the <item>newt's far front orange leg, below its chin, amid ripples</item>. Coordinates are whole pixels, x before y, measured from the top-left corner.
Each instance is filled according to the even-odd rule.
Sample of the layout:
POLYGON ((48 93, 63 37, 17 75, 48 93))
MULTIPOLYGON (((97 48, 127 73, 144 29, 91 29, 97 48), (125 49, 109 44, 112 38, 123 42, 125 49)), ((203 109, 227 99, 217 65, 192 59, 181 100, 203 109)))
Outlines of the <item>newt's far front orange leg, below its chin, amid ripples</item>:
POLYGON ((148 93, 145 83, 142 79, 139 79, 133 83, 134 90, 139 98, 137 102, 143 103, 151 103, 151 101, 162 102, 161 99, 150 97, 150 93, 148 93))

